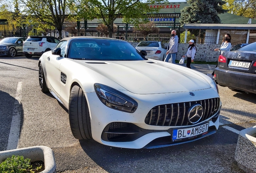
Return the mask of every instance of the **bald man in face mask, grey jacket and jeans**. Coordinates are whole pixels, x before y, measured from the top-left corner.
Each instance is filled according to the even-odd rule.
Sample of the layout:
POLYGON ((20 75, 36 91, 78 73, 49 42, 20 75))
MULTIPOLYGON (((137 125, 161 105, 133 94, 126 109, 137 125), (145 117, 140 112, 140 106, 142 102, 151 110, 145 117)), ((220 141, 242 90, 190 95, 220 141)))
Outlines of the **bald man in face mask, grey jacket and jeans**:
POLYGON ((167 46, 167 52, 166 52, 167 56, 165 58, 165 62, 168 62, 169 59, 171 58, 171 63, 175 64, 176 54, 178 52, 178 41, 179 41, 179 38, 176 35, 176 31, 172 30, 171 38, 167 46))

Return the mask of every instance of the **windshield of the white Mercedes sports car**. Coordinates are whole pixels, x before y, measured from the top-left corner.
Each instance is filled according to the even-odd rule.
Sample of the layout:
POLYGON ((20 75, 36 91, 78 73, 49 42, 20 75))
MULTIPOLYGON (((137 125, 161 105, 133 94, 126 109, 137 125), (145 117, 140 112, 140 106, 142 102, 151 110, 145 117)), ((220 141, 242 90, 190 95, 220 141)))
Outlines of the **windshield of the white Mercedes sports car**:
POLYGON ((74 39, 68 58, 83 60, 145 60, 130 43, 111 39, 74 39))

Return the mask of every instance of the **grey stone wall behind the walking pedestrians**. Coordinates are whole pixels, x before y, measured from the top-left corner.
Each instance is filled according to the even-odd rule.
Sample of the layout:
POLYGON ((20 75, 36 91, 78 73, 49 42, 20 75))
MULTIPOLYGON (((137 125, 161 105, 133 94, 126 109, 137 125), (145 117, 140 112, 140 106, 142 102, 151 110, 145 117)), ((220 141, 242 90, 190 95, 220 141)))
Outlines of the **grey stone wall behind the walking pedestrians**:
MULTIPOLYGON (((138 42, 130 42, 132 46, 136 47, 138 42)), ((165 43, 167 46, 168 43, 165 43)), ((215 48, 220 48, 221 44, 195 44, 197 51, 195 56, 195 61, 206 61, 206 62, 218 62, 219 51, 214 51, 215 48)), ((177 60, 186 54, 188 50, 188 43, 179 43, 177 60)))

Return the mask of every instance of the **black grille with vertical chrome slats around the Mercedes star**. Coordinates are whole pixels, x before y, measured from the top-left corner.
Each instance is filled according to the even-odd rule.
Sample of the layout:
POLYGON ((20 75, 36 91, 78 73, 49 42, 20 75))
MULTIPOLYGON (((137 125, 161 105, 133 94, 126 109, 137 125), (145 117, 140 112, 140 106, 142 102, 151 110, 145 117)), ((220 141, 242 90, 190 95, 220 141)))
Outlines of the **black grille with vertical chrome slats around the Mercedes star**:
POLYGON ((153 107, 145 118, 147 125, 153 126, 186 126, 193 125, 188 122, 188 110, 192 105, 200 104, 203 107, 203 115, 200 122, 212 117, 217 113, 220 106, 220 99, 206 99, 201 101, 173 103, 153 107))

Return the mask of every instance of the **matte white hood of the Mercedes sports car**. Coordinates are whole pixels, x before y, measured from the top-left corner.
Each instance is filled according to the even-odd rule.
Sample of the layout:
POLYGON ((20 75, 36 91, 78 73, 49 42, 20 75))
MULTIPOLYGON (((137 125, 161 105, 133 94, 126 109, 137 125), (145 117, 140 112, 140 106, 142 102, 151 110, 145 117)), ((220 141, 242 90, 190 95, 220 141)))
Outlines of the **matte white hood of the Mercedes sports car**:
MULTIPOLYGON (((79 60, 81 63, 81 60, 79 60)), ((211 88, 200 75, 175 64, 138 61, 84 61, 83 64, 136 94, 174 93, 211 88)))

